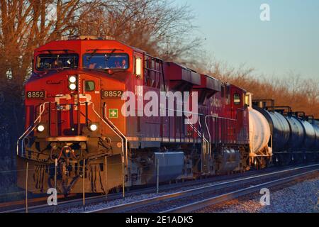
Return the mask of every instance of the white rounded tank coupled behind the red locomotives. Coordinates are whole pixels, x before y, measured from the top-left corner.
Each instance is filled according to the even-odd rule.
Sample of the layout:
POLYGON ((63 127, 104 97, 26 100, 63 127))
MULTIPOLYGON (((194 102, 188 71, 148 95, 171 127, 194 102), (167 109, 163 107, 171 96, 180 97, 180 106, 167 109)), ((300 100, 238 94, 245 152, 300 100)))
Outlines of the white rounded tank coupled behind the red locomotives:
POLYGON ((267 119, 257 110, 250 109, 250 152, 257 153, 268 147, 270 127, 267 119))

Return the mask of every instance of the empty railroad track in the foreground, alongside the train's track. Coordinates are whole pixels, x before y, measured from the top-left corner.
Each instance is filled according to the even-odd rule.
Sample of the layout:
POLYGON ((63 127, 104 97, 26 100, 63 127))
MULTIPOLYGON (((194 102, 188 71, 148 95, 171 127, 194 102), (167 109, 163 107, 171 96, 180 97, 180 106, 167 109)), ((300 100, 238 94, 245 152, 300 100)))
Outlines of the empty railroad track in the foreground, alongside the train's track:
POLYGON ((242 177, 226 182, 198 187, 181 192, 164 194, 117 206, 110 206, 86 213, 187 213, 206 206, 234 199, 238 196, 257 192, 264 187, 274 187, 295 179, 317 174, 319 165, 294 167, 288 170, 264 173, 252 177, 242 177))

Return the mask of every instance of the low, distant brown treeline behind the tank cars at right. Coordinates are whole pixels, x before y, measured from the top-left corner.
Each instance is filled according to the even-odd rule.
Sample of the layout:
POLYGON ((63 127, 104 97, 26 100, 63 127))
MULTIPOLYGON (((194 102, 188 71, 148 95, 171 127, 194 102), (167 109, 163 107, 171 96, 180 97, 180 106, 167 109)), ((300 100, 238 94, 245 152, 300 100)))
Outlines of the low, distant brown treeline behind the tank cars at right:
MULTIPOLYGON (((319 77, 307 78, 288 72, 282 77, 258 75, 244 65, 235 69, 220 62, 203 66, 205 73, 235 84, 253 94, 253 99, 274 99, 276 106, 291 106, 319 118, 319 77)), ((201 70, 201 69, 198 69, 201 70)))

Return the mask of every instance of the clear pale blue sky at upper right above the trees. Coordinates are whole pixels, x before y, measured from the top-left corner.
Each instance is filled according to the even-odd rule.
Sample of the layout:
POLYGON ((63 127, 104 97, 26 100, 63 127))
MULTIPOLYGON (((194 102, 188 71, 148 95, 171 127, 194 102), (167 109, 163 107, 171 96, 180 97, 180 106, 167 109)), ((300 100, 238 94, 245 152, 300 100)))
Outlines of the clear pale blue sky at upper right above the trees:
POLYGON ((318 0, 176 0, 194 11, 203 48, 228 65, 271 77, 319 77, 318 0), (261 21, 268 4, 270 21, 261 21))

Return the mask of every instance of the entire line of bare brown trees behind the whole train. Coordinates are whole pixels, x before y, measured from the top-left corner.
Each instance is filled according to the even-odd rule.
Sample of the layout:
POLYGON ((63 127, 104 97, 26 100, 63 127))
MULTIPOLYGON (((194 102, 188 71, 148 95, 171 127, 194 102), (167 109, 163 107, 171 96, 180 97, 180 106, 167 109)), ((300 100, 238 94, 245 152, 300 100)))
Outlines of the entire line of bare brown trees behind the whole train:
POLYGON ((1 155, 14 155, 16 138, 23 131, 23 84, 30 76, 33 50, 50 40, 77 35, 111 36, 243 87, 254 98, 276 99, 278 105, 319 118, 318 80, 256 77, 250 69, 203 64, 207 56, 194 35, 193 20, 189 6, 170 0, 0 1, 1 155))

